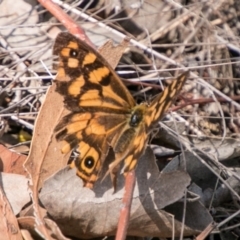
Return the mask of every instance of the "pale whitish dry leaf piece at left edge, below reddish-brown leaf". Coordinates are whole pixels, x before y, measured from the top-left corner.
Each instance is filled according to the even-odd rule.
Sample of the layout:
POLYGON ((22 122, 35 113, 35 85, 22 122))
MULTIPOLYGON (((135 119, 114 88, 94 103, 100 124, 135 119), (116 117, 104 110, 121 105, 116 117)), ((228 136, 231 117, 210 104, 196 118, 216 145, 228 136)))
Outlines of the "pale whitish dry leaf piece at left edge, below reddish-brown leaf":
POLYGON ((1 173, 0 185, 15 215, 30 202, 28 179, 25 176, 1 173))

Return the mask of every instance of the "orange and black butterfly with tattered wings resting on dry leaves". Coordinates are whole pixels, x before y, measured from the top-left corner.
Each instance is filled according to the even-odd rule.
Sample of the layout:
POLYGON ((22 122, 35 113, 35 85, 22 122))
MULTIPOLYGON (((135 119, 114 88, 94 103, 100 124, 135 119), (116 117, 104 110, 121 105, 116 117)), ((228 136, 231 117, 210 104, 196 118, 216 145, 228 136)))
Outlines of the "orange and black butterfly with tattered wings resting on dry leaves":
POLYGON ((53 47, 59 57, 56 91, 70 113, 55 128, 61 151, 77 148, 70 164, 84 186, 93 188, 112 149, 112 181, 120 163, 124 174, 133 170, 144 153, 149 135, 182 89, 188 72, 178 76, 151 103, 136 104, 109 63, 93 48, 69 33, 60 33, 53 47))

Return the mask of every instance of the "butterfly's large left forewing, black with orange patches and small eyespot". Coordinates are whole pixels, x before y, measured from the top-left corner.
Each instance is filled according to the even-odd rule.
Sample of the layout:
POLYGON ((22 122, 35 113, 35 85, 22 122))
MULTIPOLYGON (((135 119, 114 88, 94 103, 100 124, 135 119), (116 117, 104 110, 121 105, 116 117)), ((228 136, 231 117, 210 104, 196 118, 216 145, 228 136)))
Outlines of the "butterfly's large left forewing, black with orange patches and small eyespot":
POLYGON ((53 52, 60 61, 57 92, 64 95, 71 111, 89 106, 126 110, 135 105, 111 66, 84 42, 68 33, 60 33, 53 52))

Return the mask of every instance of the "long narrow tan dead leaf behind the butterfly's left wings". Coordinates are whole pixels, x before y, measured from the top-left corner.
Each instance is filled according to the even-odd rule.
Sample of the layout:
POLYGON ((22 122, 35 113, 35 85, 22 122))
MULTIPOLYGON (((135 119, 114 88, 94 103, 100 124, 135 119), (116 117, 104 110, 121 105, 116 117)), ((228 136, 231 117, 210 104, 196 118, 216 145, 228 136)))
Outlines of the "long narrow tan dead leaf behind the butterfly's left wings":
MULTIPOLYGON (((114 48, 114 51, 118 53, 115 56, 120 58, 119 52, 122 53, 124 48, 123 46, 120 49, 114 48)), ((111 53, 111 55, 114 55, 114 53, 111 53)), ((115 59, 114 64, 116 64, 116 61, 118 62, 119 59, 115 59)), ((37 222, 39 223, 38 227, 49 239, 51 239, 50 233, 43 224, 43 216, 38 206, 38 190, 49 176, 66 166, 70 156, 70 154, 63 155, 61 153, 61 146, 54 136, 55 126, 62 117, 68 114, 68 110, 65 109, 63 104, 63 97, 55 92, 55 87, 55 84, 53 84, 47 91, 46 99, 36 119, 30 153, 24 163, 33 184, 32 196, 37 222)))

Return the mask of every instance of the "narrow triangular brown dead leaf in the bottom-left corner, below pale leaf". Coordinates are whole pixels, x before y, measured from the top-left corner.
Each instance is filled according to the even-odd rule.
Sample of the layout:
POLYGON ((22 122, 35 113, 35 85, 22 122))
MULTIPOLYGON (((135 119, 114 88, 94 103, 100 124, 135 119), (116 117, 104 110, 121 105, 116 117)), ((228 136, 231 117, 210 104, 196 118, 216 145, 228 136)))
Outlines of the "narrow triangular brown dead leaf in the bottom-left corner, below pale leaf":
POLYGON ((17 219, 1 187, 0 187, 0 236, 1 239, 11 240, 22 239, 17 219))

